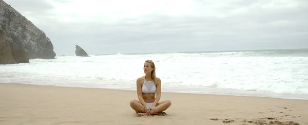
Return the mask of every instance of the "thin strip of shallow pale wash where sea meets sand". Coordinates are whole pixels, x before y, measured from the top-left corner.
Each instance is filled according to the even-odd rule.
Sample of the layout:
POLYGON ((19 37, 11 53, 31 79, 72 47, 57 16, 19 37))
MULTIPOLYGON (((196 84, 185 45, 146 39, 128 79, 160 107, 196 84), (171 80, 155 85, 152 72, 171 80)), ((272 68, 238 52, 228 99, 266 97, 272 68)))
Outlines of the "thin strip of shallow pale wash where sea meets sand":
MULTIPOLYGON (((72 87, 72 88, 100 88, 106 90, 120 90, 120 91, 136 91, 132 88, 116 88, 116 87, 91 87, 91 86, 69 86, 69 85, 54 85, 54 84, 38 84, 38 83, 17 83, 17 82, 3 82, 0 84, 26 84, 26 85, 42 85, 42 86, 54 86, 54 87, 72 87)), ((235 90, 232 92, 222 92, 224 89, 217 92, 216 88, 204 89, 207 92, 185 92, 185 91, 163 91, 163 93, 179 93, 179 94, 205 94, 205 95, 223 95, 223 96, 243 96, 243 97, 265 97, 265 98, 277 98, 277 99, 295 99, 295 100, 308 100, 308 95, 300 95, 300 94, 277 94, 277 93, 268 93, 268 92, 258 92, 258 91, 239 91, 235 90)))

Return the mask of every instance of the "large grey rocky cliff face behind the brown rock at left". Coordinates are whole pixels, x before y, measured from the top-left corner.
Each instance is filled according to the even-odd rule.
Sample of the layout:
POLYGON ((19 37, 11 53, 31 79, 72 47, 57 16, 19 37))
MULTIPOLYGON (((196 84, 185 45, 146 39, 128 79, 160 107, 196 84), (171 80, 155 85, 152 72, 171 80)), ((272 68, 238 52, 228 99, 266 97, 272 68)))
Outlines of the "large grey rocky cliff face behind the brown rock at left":
POLYGON ((25 51, 29 59, 54 59, 53 45, 46 34, 3 0, 0 0, 0 25, 10 45, 25 51))

